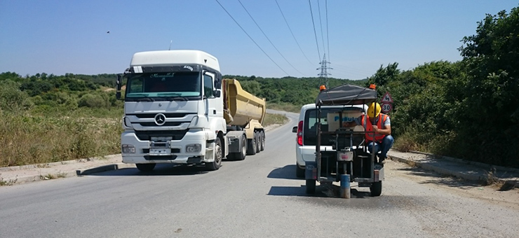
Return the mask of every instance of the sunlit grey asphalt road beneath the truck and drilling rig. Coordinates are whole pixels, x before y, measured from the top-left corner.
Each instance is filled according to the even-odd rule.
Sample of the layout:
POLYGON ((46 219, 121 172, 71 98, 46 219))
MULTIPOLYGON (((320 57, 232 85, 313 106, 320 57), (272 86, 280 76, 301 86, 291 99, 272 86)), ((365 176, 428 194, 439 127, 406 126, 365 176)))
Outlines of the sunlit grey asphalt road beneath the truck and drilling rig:
POLYGON ((519 210, 400 176, 381 197, 304 193, 292 122, 216 172, 157 166, 0 187, 0 237, 519 237, 519 210))

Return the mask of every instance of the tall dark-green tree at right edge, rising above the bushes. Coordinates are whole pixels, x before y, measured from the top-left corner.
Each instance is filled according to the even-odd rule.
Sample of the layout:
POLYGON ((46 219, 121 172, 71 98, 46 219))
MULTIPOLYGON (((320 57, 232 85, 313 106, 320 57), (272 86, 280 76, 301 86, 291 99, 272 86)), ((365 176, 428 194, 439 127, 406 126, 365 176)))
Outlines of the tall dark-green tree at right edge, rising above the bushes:
POLYGON ((463 151, 519 166, 519 8, 487 14, 459 48, 467 73, 460 128, 463 151), (480 150, 479 148, 487 148, 480 150))

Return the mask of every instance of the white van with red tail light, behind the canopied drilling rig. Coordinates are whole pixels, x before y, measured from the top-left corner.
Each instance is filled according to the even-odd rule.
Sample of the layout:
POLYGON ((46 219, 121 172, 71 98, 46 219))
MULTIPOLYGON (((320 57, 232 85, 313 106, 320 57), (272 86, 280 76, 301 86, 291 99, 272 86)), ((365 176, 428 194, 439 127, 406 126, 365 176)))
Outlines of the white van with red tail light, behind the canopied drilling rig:
MULTIPOLYGON (((351 106, 321 106, 321 130, 335 132, 339 127, 338 111, 343 111, 343 121, 353 121, 353 119, 363 115, 368 111, 368 106, 364 104, 351 106), (346 113, 345 113, 346 112, 346 113)), ((299 121, 297 127, 292 128, 292 132, 297 133, 295 139, 295 156, 297 178, 304 178, 304 169, 306 162, 316 161, 316 143, 317 143, 317 118, 316 104, 306 104, 301 107, 299 113, 299 121)), ((363 130, 358 125, 353 130, 363 130)), ((321 151, 334 151, 332 149, 331 135, 323 135, 321 138, 321 151)))

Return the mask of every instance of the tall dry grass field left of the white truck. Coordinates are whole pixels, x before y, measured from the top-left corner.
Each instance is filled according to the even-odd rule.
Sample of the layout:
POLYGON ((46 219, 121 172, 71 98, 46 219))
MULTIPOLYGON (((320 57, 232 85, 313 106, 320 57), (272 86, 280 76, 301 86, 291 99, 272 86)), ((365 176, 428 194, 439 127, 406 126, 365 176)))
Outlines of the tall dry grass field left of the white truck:
POLYGON ((118 153, 120 118, 0 113, 0 167, 34 165, 118 153))

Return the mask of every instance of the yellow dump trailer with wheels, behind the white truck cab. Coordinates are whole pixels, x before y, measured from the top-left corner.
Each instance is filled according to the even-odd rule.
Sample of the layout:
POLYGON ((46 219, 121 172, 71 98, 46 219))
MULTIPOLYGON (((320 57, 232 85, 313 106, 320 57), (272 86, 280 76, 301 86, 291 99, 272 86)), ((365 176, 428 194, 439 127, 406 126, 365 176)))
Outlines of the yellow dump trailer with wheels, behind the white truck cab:
POLYGON ((245 151, 248 155, 254 155, 264 150, 265 132, 263 120, 265 118, 265 99, 255 97, 243 90, 236 79, 224 79, 224 118, 227 123, 227 134, 232 138, 232 134, 243 133, 246 137, 246 150, 243 150, 243 138, 229 139, 229 155, 231 158, 245 158, 245 151), (234 144, 234 146, 232 146, 234 144), (239 148, 235 148, 239 146, 239 148))

